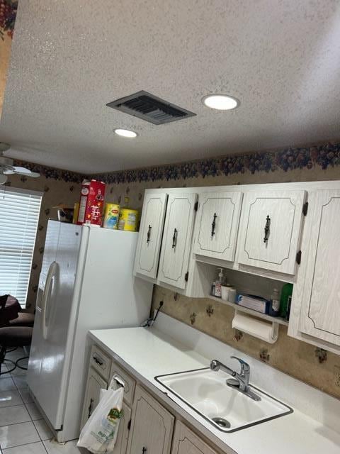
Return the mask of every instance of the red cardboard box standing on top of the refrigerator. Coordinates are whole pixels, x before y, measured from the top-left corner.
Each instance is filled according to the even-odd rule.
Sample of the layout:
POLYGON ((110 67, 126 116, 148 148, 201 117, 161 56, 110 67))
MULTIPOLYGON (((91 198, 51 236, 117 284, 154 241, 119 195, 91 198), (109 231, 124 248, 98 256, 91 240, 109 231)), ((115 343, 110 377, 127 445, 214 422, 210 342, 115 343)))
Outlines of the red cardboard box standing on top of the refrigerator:
POLYGON ((81 184, 79 214, 77 224, 101 226, 105 196, 105 183, 91 179, 81 184))

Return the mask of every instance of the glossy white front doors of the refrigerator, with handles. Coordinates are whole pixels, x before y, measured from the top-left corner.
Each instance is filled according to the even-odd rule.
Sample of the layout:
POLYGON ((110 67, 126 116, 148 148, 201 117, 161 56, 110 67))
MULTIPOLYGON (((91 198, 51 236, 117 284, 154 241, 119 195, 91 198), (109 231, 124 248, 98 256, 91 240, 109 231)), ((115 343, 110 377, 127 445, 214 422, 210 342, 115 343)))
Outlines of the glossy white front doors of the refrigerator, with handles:
POLYGON ((81 240, 81 226, 59 224, 55 260, 50 262, 45 288, 38 292, 27 377, 28 387, 55 430, 62 427, 64 414, 72 325, 77 313, 74 281, 81 240))

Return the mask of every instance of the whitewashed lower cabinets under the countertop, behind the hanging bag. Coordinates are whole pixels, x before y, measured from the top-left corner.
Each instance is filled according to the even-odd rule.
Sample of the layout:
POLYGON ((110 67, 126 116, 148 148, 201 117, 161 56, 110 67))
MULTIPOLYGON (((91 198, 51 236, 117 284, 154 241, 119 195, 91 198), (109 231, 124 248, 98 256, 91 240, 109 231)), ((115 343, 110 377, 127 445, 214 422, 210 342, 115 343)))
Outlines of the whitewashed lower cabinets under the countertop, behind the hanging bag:
MULTIPOLYGON (((92 347, 92 351, 94 350, 103 354, 96 344, 92 347)), ((117 377, 125 383, 123 417, 119 423, 113 454, 217 454, 181 421, 176 421, 174 430, 174 415, 142 388, 134 376, 112 360, 113 358, 108 359, 112 362, 110 379, 117 377)), ((92 358, 81 428, 98 405, 101 389, 108 387, 108 382, 103 380, 91 364, 92 358)))

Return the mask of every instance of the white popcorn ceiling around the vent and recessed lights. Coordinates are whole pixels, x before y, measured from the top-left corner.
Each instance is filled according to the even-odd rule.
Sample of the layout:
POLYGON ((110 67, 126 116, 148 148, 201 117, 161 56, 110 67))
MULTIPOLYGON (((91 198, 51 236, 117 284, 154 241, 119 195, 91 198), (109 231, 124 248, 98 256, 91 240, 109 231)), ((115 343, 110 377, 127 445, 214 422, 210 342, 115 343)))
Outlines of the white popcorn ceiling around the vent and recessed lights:
POLYGON ((339 67, 339 0, 21 0, 0 140, 103 172, 338 139, 339 67), (154 126, 106 107, 141 89, 197 116, 154 126), (212 92, 241 106, 207 109, 212 92))

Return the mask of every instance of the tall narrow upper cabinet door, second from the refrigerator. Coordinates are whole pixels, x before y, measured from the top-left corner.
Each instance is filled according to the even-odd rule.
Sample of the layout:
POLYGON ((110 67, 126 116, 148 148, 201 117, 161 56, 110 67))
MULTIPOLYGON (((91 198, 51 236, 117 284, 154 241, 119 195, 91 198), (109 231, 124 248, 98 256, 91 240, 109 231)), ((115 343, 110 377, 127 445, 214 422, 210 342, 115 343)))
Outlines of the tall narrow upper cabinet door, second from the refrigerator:
POLYGON ((186 288, 186 272, 193 234, 196 194, 170 194, 166 209, 158 278, 186 288))

